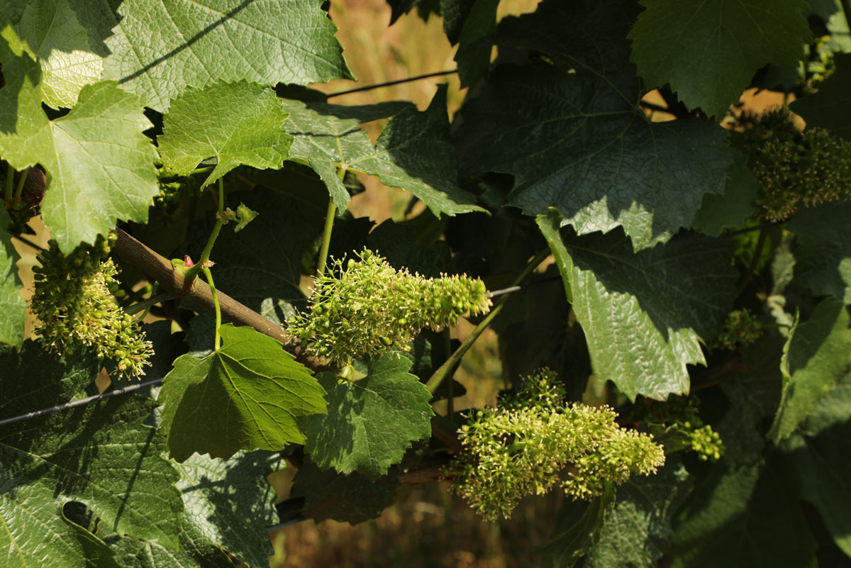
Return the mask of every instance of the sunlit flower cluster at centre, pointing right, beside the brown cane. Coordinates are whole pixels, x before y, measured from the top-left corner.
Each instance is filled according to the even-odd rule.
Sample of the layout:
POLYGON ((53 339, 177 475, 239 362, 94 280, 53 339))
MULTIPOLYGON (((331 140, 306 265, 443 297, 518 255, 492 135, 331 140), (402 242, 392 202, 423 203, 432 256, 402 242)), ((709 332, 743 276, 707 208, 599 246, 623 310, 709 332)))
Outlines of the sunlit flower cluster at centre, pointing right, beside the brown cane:
POLYGON ((394 348, 408 350, 423 328, 439 331, 491 306, 481 280, 412 275, 368 249, 357 260, 334 261, 330 269, 314 282, 310 309, 287 325, 308 355, 338 366, 394 348))

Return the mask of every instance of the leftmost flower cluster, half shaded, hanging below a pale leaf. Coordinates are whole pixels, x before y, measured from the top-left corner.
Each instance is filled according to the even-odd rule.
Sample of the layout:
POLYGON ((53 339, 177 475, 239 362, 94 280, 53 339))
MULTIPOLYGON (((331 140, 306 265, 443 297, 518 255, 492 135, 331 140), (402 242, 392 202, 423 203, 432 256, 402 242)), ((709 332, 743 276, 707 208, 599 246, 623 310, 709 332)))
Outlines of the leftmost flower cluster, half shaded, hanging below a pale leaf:
POLYGON ((41 267, 34 269, 31 310, 48 349, 73 355, 81 347, 94 348, 99 361, 114 361, 121 375, 138 377, 153 349, 114 300, 118 283, 108 258, 110 242, 99 237, 94 247, 83 244, 64 255, 50 241, 38 255, 41 267))

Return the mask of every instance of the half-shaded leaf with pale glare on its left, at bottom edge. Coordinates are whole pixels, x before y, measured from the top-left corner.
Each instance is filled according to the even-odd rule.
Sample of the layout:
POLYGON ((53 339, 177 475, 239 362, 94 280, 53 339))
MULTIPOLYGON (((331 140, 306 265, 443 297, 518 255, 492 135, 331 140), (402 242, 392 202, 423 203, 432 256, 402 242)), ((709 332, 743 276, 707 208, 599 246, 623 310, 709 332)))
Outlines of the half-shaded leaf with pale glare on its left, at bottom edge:
POLYGON ((265 566, 275 554, 266 525, 277 522, 275 491, 266 475, 281 469, 281 462, 280 454, 237 452, 228 460, 195 455, 176 464, 186 506, 183 524, 246 564, 265 566))

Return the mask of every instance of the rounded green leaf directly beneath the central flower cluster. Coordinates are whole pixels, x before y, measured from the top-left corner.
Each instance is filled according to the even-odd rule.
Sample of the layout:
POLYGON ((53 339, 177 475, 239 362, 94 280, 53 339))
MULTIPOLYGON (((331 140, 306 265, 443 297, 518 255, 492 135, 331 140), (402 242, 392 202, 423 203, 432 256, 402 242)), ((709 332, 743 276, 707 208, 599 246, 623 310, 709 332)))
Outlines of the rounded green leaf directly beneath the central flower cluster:
POLYGON ((390 354, 369 361, 367 376, 357 381, 319 374, 328 413, 302 422, 305 452, 319 469, 357 470, 376 480, 402 461, 411 442, 431 435, 431 394, 410 368, 411 361, 390 354))

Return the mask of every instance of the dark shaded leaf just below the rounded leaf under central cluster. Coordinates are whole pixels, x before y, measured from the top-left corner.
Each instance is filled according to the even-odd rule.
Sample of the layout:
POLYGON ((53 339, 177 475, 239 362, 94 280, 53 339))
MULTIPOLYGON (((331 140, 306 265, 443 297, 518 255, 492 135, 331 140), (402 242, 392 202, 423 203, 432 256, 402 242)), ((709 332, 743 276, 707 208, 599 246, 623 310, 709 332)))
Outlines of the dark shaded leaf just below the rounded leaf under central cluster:
POLYGON ((305 460, 293 481, 290 497, 304 497, 303 512, 308 518, 351 525, 378 517, 393 504, 399 487, 396 475, 370 480, 357 472, 346 475, 334 469, 322 471, 310 460, 305 460))

